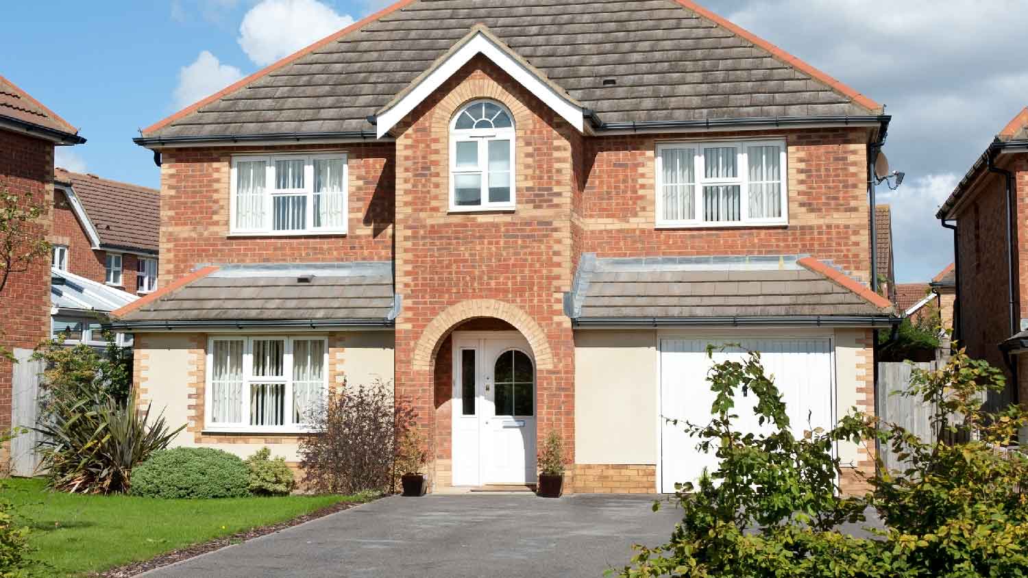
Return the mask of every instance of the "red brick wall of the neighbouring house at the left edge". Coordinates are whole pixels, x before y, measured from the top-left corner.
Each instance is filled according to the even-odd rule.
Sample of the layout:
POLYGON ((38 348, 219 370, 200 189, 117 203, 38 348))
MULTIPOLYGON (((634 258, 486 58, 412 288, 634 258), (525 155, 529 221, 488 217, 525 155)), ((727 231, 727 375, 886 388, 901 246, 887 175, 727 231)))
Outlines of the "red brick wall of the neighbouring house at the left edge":
MULTIPOLYGON (((0 130, 0 189, 45 207, 34 226, 39 238, 52 226, 53 145, 16 132, 0 130)), ((50 260, 33 262, 28 271, 12 273, 0 292, 0 346, 35 347, 50 331, 50 260)), ((10 427, 12 367, 0 357, 0 429, 10 427)), ((2 452, 2 450, 0 450, 2 452)))

